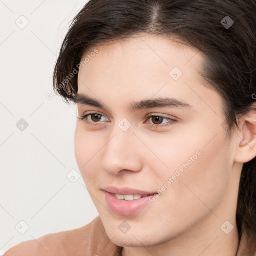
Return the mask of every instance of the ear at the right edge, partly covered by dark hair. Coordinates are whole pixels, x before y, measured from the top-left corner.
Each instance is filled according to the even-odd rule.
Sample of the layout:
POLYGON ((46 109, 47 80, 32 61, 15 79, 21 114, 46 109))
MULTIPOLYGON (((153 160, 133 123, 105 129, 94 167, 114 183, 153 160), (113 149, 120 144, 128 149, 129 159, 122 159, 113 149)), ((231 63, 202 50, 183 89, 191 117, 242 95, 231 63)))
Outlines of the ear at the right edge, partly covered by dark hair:
POLYGON ((248 162, 256 156, 256 105, 239 119, 237 130, 238 148, 234 160, 248 162))

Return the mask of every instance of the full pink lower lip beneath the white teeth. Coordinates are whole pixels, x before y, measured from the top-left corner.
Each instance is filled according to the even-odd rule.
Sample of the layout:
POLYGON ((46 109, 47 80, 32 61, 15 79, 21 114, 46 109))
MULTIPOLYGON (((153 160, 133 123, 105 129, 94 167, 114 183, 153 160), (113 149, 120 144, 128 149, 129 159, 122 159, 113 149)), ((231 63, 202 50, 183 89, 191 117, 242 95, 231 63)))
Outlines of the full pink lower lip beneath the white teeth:
POLYGON ((126 201, 126 200, 117 199, 115 195, 112 193, 108 193, 105 191, 105 194, 106 194, 106 202, 109 208, 116 214, 120 214, 124 216, 134 215, 138 213, 149 202, 149 197, 153 196, 153 195, 148 195, 145 197, 141 197, 140 199, 126 201))

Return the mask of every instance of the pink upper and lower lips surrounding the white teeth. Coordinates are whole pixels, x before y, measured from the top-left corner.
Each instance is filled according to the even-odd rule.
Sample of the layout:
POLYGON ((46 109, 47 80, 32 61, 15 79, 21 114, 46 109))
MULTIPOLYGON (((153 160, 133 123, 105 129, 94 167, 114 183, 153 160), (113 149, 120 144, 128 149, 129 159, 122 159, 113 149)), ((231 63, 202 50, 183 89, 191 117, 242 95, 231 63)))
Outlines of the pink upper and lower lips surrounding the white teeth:
POLYGON ((105 191, 106 202, 109 208, 116 214, 129 216, 134 215, 141 211, 146 204, 149 202, 149 197, 155 194, 156 192, 142 191, 131 188, 116 188, 116 187, 107 187, 103 189, 105 191), (141 197, 140 199, 135 200, 120 200, 117 199, 115 194, 140 194, 148 195, 141 197))

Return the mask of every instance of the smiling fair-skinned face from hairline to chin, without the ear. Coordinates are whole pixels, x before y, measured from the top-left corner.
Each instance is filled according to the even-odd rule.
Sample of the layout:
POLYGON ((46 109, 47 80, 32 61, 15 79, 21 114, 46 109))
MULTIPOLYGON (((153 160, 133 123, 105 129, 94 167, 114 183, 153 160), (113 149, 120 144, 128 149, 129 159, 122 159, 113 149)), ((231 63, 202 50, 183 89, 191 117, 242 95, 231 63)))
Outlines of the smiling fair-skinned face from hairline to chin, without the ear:
POLYGON ((77 97, 75 157, 108 236, 149 246, 222 216, 234 151, 221 97, 197 73, 204 55, 148 34, 93 50, 78 95, 99 104, 77 97))

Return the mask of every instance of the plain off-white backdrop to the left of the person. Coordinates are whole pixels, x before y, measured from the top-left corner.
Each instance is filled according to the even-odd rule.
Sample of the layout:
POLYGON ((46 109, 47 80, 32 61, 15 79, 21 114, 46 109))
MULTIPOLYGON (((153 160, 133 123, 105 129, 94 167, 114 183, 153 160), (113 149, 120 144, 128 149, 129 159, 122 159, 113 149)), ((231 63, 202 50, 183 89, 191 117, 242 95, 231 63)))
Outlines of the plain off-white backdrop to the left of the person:
POLYGON ((0 0, 0 255, 98 215, 75 160, 76 107, 50 96, 62 40, 86 2, 0 0))

